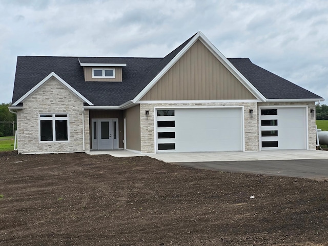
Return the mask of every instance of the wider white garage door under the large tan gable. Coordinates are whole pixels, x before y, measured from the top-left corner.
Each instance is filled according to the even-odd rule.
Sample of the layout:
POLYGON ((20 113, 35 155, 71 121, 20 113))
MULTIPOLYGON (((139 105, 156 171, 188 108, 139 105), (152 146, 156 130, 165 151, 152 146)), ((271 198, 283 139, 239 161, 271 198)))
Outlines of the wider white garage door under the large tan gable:
POLYGON ((242 151, 241 108, 157 109, 157 152, 242 151))

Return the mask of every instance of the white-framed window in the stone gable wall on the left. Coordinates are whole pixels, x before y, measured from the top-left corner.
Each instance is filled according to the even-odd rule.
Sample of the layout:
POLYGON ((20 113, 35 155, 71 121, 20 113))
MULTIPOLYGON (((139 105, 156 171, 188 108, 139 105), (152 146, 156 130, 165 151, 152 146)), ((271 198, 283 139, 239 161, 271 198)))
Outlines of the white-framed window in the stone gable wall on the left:
POLYGON ((41 142, 68 142, 68 114, 39 114, 39 140, 41 142))

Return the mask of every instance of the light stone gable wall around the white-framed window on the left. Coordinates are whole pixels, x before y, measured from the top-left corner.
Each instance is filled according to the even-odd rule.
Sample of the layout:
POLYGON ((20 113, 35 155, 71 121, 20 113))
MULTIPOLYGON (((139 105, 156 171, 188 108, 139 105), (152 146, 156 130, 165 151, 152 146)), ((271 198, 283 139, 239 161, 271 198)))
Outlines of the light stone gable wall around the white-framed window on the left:
MULTIPOLYGON (((17 113, 18 153, 82 152, 83 101, 54 77, 23 101, 17 113), (69 114, 69 142, 40 142, 39 114, 69 114)), ((85 150, 90 150, 89 111, 85 111, 85 150)))

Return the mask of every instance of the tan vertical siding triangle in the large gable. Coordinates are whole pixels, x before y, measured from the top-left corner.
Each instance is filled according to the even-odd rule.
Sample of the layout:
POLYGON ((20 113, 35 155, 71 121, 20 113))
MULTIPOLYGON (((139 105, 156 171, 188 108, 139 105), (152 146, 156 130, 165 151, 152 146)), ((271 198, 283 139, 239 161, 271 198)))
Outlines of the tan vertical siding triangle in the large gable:
POLYGON ((256 99, 199 41, 141 100, 256 99))

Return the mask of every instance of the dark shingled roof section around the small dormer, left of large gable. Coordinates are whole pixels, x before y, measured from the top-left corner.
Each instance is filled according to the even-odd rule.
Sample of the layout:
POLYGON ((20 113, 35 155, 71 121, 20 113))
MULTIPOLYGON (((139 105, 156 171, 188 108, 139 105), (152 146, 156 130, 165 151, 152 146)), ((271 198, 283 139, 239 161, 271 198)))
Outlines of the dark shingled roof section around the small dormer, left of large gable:
MULTIPOLYGON (((96 58, 96 57, 95 57, 96 58)), ((97 58, 98 59, 98 58, 97 58)), ((119 106, 135 97, 135 89, 145 83, 148 71, 162 58, 105 58, 110 63, 126 63, 122 82, 85 82, 78 57, 18 56, 14 93, 15 102, 51 72, 56 73, 95 106, 119 106)))

